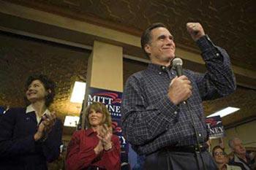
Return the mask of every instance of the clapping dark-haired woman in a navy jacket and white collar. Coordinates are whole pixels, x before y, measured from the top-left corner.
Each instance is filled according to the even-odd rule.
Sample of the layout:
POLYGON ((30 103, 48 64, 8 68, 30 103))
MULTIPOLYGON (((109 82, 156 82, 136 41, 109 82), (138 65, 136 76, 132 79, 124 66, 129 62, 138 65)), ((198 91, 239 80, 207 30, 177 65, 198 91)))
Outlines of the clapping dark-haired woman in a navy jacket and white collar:
POLYGON ((55 83, 45 75, 26 82, 27 107, 11 108, 0 120, 0 169, 47 170, 59 157, 62 126, 48 107, 55 83))

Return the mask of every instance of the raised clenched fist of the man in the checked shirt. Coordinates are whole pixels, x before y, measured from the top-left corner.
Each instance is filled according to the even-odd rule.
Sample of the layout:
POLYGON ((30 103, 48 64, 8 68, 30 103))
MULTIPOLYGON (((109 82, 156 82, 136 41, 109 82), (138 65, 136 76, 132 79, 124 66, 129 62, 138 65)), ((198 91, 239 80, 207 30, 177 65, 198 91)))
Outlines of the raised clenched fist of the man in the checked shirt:
POLYGON ((200 23, 187 23, 187 31, 195 42, 206 35, 200 23))

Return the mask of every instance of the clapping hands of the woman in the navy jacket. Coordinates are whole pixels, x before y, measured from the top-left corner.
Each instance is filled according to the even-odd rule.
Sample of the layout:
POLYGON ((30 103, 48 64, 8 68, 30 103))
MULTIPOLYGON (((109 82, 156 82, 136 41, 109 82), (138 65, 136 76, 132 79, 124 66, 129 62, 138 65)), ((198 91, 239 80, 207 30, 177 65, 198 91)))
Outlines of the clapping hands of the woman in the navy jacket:
POLYGON ((41 139, 43 136, 45 136, 46 134, 48 134, 53 128, 53 125, 55 124, 55 122, 56 122, 55 112, 51 112, 48 115, 43 115, 42 122, 39 123, 37 133, 34 134, 34 140, 37 141, 41 139))

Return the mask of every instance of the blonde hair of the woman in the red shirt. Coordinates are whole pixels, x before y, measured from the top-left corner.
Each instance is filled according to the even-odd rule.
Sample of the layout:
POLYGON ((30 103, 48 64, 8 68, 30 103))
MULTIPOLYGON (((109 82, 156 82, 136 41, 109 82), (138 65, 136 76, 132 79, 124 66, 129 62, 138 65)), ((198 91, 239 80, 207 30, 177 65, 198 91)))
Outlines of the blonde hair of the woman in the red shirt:
MULTIPOLYGON (((110 116, 110 112, 108 112, 107 107, 100 103, 100 102, 92 102, 87 108, 86 108, 86 128, 91 128, 91 125, 89 123, 89 113, 91 109, 94 109, 95 112, 101 112, 103 117, 102 117, 102 123, 101 125, 105 124, 108 125, 110 128, 112 126, 112 120, 110 116)), ((110 128, 111 129, 111 128, 110 128)))

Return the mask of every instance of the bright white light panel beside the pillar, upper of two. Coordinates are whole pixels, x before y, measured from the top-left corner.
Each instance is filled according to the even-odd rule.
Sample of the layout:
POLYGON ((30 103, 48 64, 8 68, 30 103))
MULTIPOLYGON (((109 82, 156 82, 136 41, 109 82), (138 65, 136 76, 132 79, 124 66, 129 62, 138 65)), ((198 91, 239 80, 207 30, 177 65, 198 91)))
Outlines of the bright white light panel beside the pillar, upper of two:
POLYGON ((86 82, 75 82, 70 101, 82 104, 85 93, 86 82))

